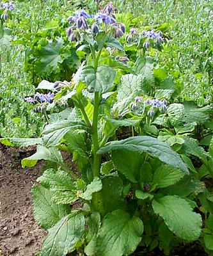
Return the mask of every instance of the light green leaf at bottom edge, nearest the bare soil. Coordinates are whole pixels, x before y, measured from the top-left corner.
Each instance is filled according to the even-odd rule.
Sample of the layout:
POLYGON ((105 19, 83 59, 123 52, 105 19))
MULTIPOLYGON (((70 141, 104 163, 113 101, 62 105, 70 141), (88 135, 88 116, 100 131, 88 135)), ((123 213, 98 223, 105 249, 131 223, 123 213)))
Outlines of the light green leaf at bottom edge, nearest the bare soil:
POLYGON ((66 256, 75 250, 75 244, 84 232, 85 220, 82 213, 69 214, 48 230, 43 241, 42 256, 66 256))

